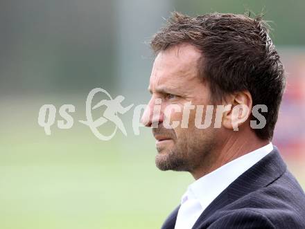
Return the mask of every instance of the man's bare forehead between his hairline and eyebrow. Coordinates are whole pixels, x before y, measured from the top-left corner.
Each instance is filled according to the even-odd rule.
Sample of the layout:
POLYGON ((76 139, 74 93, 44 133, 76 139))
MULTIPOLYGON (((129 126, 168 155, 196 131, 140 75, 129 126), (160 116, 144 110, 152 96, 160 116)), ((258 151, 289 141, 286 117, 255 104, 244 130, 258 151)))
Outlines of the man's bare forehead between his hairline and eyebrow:
POLYGON ((150 91, 163 86, 183 89, 186 84, 199 82, 200 57, 200 51, 189 44, 173 46, 158 53, 150 76, 150 91))

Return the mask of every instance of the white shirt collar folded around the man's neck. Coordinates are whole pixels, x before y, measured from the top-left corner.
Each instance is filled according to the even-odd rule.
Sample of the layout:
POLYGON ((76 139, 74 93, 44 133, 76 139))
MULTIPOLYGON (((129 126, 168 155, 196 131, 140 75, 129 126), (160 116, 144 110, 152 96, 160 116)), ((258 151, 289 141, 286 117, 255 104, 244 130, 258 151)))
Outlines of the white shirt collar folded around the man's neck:
POLYGON ((197 199, 204 210, 238 176, 250 169, 261 158, 270 153, 272 149, 272 143, 269 143, 202 176, 189 185, 186 193, 182 196, 181 203, 184 203, 187 199, 197 199))

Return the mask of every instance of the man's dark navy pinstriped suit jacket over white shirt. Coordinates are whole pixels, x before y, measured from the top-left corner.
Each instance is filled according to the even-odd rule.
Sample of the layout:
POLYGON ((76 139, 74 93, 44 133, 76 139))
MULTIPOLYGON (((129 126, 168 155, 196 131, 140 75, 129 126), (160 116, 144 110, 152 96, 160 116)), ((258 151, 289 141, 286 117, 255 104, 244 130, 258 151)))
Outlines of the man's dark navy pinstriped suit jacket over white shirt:
MULTIPOLYGON (((162 229, 175 228, 179 208, 162 229)), ((195 222, 198 228, 305 228, 304 191, 276 147, 212 201, 195 222)))

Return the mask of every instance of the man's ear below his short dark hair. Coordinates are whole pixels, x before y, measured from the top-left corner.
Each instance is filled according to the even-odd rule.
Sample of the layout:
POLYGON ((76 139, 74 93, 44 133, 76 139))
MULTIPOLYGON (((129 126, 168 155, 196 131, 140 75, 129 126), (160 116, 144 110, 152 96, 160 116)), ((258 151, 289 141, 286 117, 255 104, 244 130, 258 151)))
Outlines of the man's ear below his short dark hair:
POLYGON ((238 127, 243 125, 250 117, 252 96, 249 91, 238 91, 229 96, 229 101, 232 107, 224 113, 223 126, 238 131, 238 127))

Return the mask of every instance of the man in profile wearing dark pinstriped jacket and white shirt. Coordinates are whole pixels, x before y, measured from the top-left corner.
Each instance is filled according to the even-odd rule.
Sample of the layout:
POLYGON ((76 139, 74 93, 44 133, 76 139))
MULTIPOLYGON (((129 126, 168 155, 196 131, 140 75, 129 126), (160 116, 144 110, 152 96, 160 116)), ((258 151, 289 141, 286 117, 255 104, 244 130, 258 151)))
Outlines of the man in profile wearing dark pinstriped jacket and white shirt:
POLYGON ((156 165, 195 178, 162 228, 305 228, 305 194, 271 143, 285 77, 261 17, 174 12, 150 44, 156 165))

